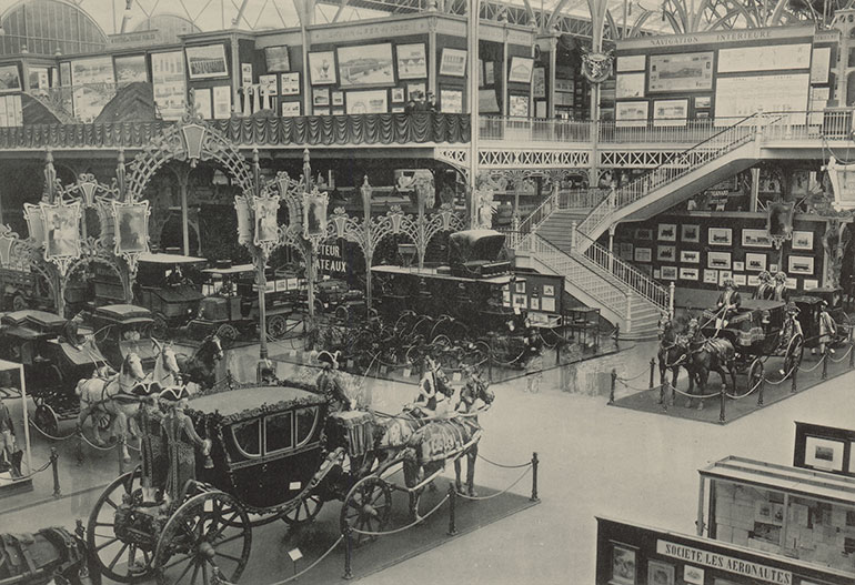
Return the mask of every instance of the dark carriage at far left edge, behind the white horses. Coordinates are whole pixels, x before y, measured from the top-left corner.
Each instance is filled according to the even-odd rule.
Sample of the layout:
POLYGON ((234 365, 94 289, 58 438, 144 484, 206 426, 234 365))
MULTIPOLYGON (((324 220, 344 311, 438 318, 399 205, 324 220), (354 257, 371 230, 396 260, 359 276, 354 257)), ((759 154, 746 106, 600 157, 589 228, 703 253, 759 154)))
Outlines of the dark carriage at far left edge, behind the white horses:
POLYGON ((23 365, 36 403, 33 424, 57 436, 59 422, 78 416, 74 386, 104 364, 98 347, 73 345, 63 335, 66 320, 43 311, 7 313, 0 320, 0 357, 23 365))

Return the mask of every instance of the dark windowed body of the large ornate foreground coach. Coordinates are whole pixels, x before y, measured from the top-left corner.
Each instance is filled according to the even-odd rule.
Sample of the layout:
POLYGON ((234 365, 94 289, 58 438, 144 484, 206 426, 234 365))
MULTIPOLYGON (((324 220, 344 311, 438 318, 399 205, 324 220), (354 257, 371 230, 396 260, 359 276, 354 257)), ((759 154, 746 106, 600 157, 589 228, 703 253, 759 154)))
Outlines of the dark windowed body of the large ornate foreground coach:
POLYGON ((325 399, 289 386, 251 386, 192 399, 188 414, 213 442, 212 468, 198 458, 198 477, 247 506, 295 498, 323 458, 325 399))

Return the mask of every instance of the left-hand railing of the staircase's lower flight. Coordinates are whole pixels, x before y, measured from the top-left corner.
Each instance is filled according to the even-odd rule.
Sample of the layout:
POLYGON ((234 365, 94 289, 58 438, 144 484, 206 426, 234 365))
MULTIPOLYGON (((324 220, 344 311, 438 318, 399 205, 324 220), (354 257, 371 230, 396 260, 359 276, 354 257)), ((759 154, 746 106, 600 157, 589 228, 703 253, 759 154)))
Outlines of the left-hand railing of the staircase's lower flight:
POLYGON ((549 240, 537 233, 529 234, 529 238, 521 243, 521 249, 535 255, 539 262, 542 262, 557 274, 571 281, 574 285, 581 284, 580 271, 591 272, 593 283, 585 286, 584 291, 600 301, 604 306, 615 312, 621 319, 627 319, 627 292, 614 283, 586 268, 577 255, 570 255, 549 240))

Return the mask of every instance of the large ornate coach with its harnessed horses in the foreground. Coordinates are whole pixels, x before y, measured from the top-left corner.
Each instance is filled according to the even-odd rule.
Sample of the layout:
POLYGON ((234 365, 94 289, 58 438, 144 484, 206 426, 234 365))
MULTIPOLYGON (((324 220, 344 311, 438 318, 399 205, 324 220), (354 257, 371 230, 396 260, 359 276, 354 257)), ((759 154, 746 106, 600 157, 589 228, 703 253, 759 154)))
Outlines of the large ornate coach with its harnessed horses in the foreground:
MULTIPOLYGON (((190 472, 175 496, 153 504, 143 502, 140 468, 105 488, 87 534, 104 576, 120 583, 154 576, 161 585, 185 578, 211 584, 214 575, 237 581, 254 526, 278 518, 303 523, 325 502, 338 500, 343 502, 342 531, 382 531, 392 490, 409 493, 418 513, 421 491, 445 461, 465 454, 474 463, 481 436, 476 412, 445 420, 366 411, 328 415, 326 400, 313 386, 285 384, 234 387, 189 400, 185 413, 198 436, 181 443, 164 432, 165 455, 155 466, 173 474, 161 484, 169 492, 182 465, 188 473, 187 461, 177 457, 210 441, 207 450, 197 450, 197 476, 190 472), (384 478, 395 465, 404 466, 405 486, 384 478)), ((476 395, 492 401, 485 384, 476 395)))

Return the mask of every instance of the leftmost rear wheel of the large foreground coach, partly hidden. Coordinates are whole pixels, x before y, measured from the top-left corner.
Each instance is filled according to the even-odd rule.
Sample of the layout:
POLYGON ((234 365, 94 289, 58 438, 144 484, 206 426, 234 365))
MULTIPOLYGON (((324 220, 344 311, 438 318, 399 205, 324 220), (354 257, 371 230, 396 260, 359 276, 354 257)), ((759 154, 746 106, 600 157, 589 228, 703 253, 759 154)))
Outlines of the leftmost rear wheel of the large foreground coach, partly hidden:
POLYGON ((115 511, 123 503, 142 504, 139 467, 119 476, 103 491, 89 515, 87 548, 98 572, 119 583, 137 583, 151 573, 151 548, 122 542, 115 535, 115 511))

